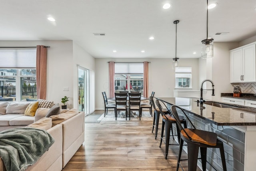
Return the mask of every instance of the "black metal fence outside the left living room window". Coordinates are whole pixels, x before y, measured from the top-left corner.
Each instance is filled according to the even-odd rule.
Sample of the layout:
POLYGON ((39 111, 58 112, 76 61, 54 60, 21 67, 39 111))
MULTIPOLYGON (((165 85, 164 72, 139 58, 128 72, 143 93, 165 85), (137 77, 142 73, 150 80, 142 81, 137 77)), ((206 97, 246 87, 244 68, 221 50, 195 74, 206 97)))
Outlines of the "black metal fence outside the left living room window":
MULTIPOLYGON (((36 87, 35 86, 22 86, 21 87, 22 96, 28 96, 30 98, 36 99, 36 87)), ((1 86, 0 87, 0 95, 2 97, 9 97, 16 95, 16 86, 1 86)))

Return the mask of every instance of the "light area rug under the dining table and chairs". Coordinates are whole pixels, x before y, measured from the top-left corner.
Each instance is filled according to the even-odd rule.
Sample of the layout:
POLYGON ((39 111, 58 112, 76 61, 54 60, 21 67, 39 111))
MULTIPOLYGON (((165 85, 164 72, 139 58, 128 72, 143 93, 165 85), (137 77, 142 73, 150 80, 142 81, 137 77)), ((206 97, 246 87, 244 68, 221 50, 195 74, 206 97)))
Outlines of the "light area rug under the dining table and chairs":
MULTIPOLYGON (((140 118, 138 115, 138 111, 134 114, 132 117, 131 115, 131 121, 153 121, 153 117, 151 117, 149 111, 142 111, 142 117, 140 118), (134 117, 135 116, 135 117, 134 117)), ((117 115, 117 118, 115 117, 114 111, 108 112, 108 115, 104 117, 104 113, 99 117, 98 121, 126 121, 124 112, 120 112, 119 115, 117 115), (123 116, 123 117, 122 117, 123 116)), ((129 121, 129 115, 127 117, 127 121, 129 121)))

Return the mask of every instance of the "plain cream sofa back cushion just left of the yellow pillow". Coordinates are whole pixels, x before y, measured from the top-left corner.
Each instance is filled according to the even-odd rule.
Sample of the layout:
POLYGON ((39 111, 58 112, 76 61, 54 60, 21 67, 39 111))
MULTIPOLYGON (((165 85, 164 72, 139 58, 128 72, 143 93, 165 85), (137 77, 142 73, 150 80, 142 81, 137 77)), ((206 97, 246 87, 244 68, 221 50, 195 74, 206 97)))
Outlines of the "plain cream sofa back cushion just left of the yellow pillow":
POLYGON ((6 107, 6 114, 24 114, 26 108, 28 107, 30 103, 28 102, 13 102, 9 103, 6 107))

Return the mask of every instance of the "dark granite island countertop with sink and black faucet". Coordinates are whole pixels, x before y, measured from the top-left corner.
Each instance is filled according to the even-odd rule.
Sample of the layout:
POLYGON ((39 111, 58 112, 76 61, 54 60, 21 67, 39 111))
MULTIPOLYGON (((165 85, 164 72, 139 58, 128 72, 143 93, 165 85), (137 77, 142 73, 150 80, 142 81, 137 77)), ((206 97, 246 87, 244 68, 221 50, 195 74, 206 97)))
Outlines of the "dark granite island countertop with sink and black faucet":
POLYGON ((200 105, 196 102, 198 99, 195 98, 158 98, 170 105, 178 105, 188 113, 216 125, 256 125, 256 108, 254 107, 231 105, 232 108, 221 108, 207 104, 200 105))

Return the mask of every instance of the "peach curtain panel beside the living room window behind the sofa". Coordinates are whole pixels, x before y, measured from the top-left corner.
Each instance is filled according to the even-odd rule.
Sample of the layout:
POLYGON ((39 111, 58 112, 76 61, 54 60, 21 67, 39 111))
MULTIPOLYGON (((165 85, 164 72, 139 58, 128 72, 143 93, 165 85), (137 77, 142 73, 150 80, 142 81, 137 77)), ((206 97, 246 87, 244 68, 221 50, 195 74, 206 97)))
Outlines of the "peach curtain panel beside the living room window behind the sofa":
POLYGON ((38 99, 46 99, 47 48, 36 46, 36 91, 38 99))

